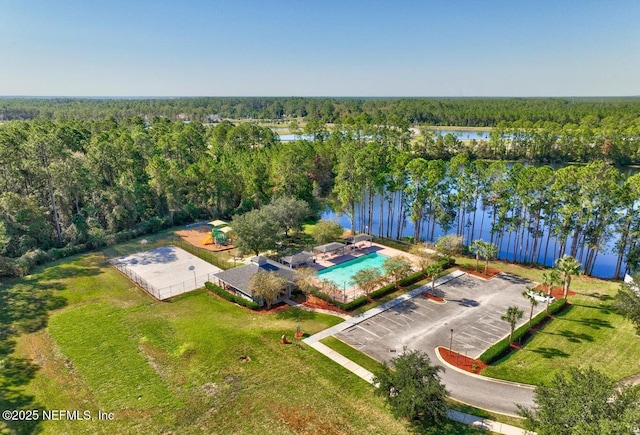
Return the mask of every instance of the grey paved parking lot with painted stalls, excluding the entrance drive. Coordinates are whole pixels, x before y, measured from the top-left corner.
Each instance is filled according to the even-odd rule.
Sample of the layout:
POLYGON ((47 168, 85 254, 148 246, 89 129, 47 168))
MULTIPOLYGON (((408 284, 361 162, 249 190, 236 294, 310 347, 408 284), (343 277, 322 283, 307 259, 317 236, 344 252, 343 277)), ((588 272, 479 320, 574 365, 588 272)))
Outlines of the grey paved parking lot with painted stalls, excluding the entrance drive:
MULTIPOLYGON (((477 358, 509 334, 509 324, 500 319, 509 306, 524 311, 518 326, 529 320, 531 305, 522 296, 528 285, 532 283, 511 275, 484 280, 465 274, 436 288, 446 303, 418 296, 336 337, 379 361, 389 361, 405 346, 423 350, 435 361, 435 348, 449 347, 451 340, 454 351, 477 358)), ((545 306, 540 303, 534 315, 545 306)))

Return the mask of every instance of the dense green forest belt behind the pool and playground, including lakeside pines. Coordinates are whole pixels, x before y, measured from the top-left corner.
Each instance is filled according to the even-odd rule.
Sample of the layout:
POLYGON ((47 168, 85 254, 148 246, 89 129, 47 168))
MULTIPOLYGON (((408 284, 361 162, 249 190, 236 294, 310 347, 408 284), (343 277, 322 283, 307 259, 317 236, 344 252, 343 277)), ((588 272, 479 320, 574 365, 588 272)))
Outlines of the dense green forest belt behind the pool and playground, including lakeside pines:
MULTIPOLYGON (((230 218, 275 198, 302 199, 316 210, 329 201, 353 221, 356 204, 383 196, 388 206, 380 208, 380 220, 391 225, 386 234, 377 229, 380 235, 400 237, 391 228, 409 219, 418 224, 416 241, 432 239, 437 224, 470 242, 482 232, 471 218, 480 204, 491 216, 482 225, 490 226, 492 241, 506 237, 518 245, 519 262, 535 263, 553 238, 588 272, 616 232, 618 276, 640 253, 640 176, 625 178, 611 166, 611 149, 635 159, 638 136, 608 137, 608 124, 589 119, 577 128, 547 125, 562 131, 550 142, 540 142, 542 125, 502 122, 481 143, 426 127, 412 135, 407 122, 362 114, 331 128, 311 120, 300 133, 313 140, 292 142, 249 122, 206 126, 157 116, 5 122, 0 275, 172 224, 230 218), (529 136, 516 136, 518 129, 529 136), (553 170, 478 158, 536 155, 559 161, 580 155, 591 163, 553 170), (550 234, 544 240, 543 230, 550 234)), ((362 219, 376 232, 368 210, 362 219)))

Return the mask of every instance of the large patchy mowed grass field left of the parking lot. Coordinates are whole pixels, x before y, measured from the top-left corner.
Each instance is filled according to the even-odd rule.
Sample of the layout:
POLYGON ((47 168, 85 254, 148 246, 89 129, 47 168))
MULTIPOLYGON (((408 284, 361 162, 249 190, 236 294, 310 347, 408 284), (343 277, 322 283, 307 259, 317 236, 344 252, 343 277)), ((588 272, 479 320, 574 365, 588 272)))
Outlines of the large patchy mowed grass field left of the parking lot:
POLYGON ((0 407, 92 417, 0 421, 2 433, 408 432, 372 386, 293 339, 298 323, 315 333, 337 317, 251 312, 204 290, 157 302, 97 254, 4 285, 0 296, 11 313, 0 326, 15 331, 2 337, 0 407), (283 334, 294 343, 279 344, 283 334))

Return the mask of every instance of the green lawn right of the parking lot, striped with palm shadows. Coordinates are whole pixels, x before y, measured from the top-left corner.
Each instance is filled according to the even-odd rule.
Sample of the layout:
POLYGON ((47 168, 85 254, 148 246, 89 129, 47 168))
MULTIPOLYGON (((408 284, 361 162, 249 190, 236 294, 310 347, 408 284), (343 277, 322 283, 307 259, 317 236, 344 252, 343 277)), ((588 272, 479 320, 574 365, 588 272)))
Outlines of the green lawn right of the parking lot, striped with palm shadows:
MULTIPOLYGON (((544 272, 502 262, 490 265, 537 282, 544 272)), ((535 334, 522 350, 482 374, 538 385, 549 382, 558 370, 572 366, 592 366, 616 380, 640 373, 640 337, 612 307, 619 286, 587 276, 573 278, 571 290, 577 294, 569 298, 571 307, 535 334)))

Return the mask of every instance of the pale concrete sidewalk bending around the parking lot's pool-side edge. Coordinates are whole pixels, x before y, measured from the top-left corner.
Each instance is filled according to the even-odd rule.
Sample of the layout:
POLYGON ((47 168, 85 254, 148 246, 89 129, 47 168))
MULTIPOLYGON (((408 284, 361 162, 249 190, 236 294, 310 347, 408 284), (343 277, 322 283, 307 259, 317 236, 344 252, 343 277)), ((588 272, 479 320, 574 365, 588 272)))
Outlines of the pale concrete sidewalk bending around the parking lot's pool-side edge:
MULTIPOLYGON (((461 275, 464 275, 464 272, 460 272, 460 271, 455 271, 453 273, 450 273, 449 275, 443 276, 439 279, 436 280, 435 284, 437 285, 442 285, 446 282, 451 281, 452 279, 455 279, 461 275)), ((355 317, 351 317, 348 318, 347 320, 345 320, 342 323, 339 323, 335 326, 332 326, 331 328, 325 329, 324 331, 321 331, 317 334, 314 334, 310 337, 307 337, 303 340, 303 342, 305 342, 306 344, 308 344, 309 346, 311 346, 312 348, 316 349, 318 352, 322 353, 323 355, 325 355, 327 358, 335 361, 336 363, 340 364, 341 366, 345 367, 347 370, 351 371, 352 373, 354 373, 356 376, 364 379, 365 381, 369 382, 370 384, 373 384, 373 373, 371 373, 370 371, 368 371, 367 369, 365 369, 364 367, 354 363, 353 361, 351 361, 350 359, 344 357, 343 355, 339 354, 338 352, 334 351, 333 349, 329 348, 328 346, 325 346, 324 344, 320 343, 320 340, 332 336, 334 334, 337 334, 338 332, 341 332, 347 328, 350 328, 354 325, 357 325, 360 322, 363 322, 377 314, 380 314, 383 311, 386 311, 390 308, 393 308, 411 298, 414 298, 418 295, 420 295, 421 293, 423 293, 427 288, 431 287, 431 285, 427 285, 427 286, 422 286, 419 287, 417 289, 414 289, 404 295, 401 295, 389 302, 386 302, 376 308, 372 308, 369 311, 366 311, 365 313, 359 314, 355 317)), ((295 303, 294 303, 295 304, 295 303)), ((304 308, 308 308, 308 307, 304 307, 304 308)), ((335 314, 335 313, 332 313, 335 314)), ((466 372, 465 372, 466 373, 466 372)), ((469 373, 469 375, 471 375, 469 373)), ((464 376, 464 375, 462 375, 464 376)), ((470 376, 472 377, 472 376, 470 376)), ((482 378, 480 376, 476 376, 476 378, 481 378, 482 381, 486 380, 486 378, 482 378)), ((478 392, 479 395, 484 395, 484 392, 478 392)), ((486 429, 489 430, 491 432, 495 432, 495 433, 499 433, 499 434, 505 434, 505 435, 526 435, 526 434, 531 434, 531 432, 525 431, 524 429, 515 427, 515 426, 511 426, 508 424, 503 424, 503 423, 499 423, 496 421, 492 421, 492 420, 487 420, 481 417, 477 417, 474 415, 470 415, 470 414, 465 414, 462 412, 458 412, 458 411, 454 411, 454 410, 449 410, 448 411, 448 416, 451 420, 460 422, 460 423, 464 423, 470 426, 474 426, 474 427, 478 427, 481 429, 486 429)))

